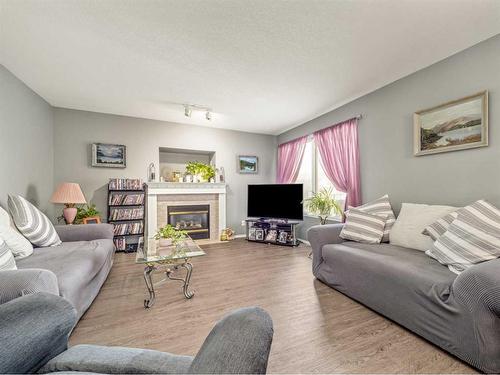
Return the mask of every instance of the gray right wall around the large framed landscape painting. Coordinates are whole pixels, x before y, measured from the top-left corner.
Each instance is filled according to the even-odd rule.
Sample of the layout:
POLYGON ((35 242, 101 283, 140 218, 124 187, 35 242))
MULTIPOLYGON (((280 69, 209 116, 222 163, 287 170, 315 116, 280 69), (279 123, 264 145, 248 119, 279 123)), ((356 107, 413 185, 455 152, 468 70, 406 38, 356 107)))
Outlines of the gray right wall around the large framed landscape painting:
MULTIPOLYGON (((417 51, 416 51, 417 53, 417 51)), ((278 137, 283 143, 357 114, 363 201, 500 206, 500 35, 385 86, 278 137), (490 146, 413 156, 413 113, 489 90, 490 146)), ((305 232, 303 227, 301 235, 305 232)))

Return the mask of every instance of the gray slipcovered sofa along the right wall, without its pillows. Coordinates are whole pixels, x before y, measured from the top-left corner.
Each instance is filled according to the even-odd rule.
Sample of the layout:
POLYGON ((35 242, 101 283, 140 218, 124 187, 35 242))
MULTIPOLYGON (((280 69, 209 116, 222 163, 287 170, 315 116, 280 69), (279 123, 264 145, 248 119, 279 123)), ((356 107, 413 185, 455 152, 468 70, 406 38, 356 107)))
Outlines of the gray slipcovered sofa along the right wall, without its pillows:
POLYGON ((418 250, 308 231, 313 274, 484 372, 500 373, 500 259, 456 275, 418 250))

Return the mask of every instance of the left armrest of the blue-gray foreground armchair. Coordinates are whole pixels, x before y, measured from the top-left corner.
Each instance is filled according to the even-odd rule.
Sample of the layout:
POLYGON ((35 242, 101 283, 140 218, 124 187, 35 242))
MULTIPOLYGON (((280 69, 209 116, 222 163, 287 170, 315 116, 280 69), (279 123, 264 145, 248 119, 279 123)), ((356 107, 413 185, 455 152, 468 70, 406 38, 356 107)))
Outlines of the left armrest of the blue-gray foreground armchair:
POLYGON ((64 298, 36 293, 0 305, 0 373, 28 374, 68 347, 76 310, 64 298))

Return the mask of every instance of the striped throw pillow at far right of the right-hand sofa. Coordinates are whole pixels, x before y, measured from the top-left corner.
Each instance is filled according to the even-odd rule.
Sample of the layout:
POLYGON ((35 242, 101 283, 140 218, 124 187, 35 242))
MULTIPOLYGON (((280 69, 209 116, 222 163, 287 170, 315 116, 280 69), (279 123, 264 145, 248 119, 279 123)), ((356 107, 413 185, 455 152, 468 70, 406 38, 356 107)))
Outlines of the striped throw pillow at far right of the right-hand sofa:
POLYGON ((460 209, 425 253, 457 274, 500 257, 500 210, 485 200, 460 209))

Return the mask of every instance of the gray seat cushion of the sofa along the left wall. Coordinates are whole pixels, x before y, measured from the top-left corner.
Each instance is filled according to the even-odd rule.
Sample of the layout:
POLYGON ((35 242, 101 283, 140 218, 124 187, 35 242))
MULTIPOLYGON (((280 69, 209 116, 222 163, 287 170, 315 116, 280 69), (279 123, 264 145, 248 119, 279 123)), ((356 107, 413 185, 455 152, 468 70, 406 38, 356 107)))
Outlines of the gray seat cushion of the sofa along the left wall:
POLYGON ((63 242, 57 247, 36 249, 30 257, 18 260, 17 266, 21 269, 42 268, 54 272, 60 295, 79 309, 82 295, 88 293, 87 289, 103 267, 109 264, 113 253, 113 241, 109 239, 63 242))

